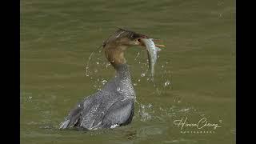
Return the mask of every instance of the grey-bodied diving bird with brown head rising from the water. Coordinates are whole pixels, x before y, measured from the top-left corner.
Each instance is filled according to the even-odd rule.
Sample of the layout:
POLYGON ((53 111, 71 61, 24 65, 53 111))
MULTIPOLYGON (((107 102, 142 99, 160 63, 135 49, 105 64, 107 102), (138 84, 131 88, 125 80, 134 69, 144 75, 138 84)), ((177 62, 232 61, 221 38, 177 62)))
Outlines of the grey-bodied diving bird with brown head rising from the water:
POLYGON ((61 123, 61 130, 72 127, 86 130, 114 128, 132 121, 136 94, 124 53, 130 46, 145 47, 142 38, 149 37, 120 28, 103 42, 106 59, 114 67, 115 76, 102 90, 84 98, 70 110, 61 123))

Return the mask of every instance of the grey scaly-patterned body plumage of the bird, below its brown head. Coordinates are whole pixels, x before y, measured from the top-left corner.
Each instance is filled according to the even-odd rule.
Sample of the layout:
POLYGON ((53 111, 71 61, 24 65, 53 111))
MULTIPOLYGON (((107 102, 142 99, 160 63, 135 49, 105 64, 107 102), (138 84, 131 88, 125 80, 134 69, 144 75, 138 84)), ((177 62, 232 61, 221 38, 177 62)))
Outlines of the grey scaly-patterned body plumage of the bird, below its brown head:
POLYGON ((62 122, 60 129, 82 127, 87 130, 111 128, 130 123, 134 114, 135 92, 126 64, 115 66, 115 78, 102 90, 85 98, 62 122))

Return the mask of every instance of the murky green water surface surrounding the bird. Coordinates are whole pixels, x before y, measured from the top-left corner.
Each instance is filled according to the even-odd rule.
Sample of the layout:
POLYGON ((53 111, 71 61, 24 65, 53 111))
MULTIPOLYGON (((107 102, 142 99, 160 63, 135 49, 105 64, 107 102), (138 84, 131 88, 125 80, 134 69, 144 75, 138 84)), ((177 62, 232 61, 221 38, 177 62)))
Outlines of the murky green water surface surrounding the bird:
POLYGON ((22 143, 235 143, 234 1, 22 0, 20 35, 22 143), (146 51, 131 47, 133 122, 114 130, 58 130, 79 100, 114 76, 98 51, 89 77, 85 71, 115 26, 162 38, 155 83, 146 80, 146 51), (192 134, 182 134, 174 125, 181 118, 221 127, 184 126, 192 134))

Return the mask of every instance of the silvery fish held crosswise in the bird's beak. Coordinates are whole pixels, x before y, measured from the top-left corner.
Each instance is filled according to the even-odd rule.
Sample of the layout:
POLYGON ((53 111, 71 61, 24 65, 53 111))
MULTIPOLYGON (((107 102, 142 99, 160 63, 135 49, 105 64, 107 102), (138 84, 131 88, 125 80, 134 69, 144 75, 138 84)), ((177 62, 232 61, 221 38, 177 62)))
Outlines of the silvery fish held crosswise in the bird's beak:
MULTIPOLYGON (((154 44, 153 38, 142 38, 141 41, 146 46, 147 56, 149 60, 151 80, 154 81, 154 65, 158 59, 158 51, 161 49, 154 44)), ((160 45, 163 46, 163 45, 160 45)))

